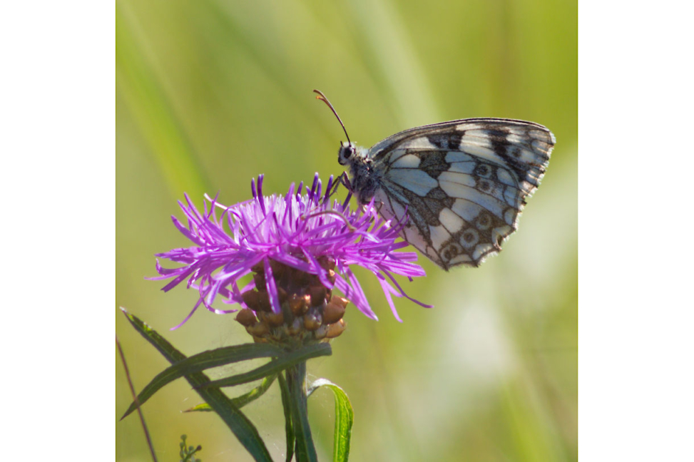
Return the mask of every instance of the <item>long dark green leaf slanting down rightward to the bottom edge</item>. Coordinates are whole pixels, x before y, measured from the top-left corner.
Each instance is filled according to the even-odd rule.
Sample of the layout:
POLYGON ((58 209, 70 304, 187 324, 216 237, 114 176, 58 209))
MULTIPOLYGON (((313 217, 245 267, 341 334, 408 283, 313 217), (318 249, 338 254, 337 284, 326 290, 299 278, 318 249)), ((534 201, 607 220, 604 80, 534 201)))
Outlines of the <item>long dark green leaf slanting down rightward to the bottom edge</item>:
MULTIPOLYGON (((173 347, 172 344, 161 337, 154 329, 142 322, 137 317, 128 313, 121 308, 123 313, 128 318, 128 321, 133 324, 133 327, 150 342, 167 361, 175 363, 183 361, 186 356, 173 347)), ((250 455, 256 461, 272 462, 270 452, 267 451, 265 443, 263 443, 260 434, 250 420, 241 412, 237 406, 234 406, 232 401, 220 389, 200 389, 203 384, 209 383, 210 379, 202 372, 195 372, 185 377, 195 391, 215 410, 222 418, 225 424, 234 433, 238 441, 246 448, 250 455)))

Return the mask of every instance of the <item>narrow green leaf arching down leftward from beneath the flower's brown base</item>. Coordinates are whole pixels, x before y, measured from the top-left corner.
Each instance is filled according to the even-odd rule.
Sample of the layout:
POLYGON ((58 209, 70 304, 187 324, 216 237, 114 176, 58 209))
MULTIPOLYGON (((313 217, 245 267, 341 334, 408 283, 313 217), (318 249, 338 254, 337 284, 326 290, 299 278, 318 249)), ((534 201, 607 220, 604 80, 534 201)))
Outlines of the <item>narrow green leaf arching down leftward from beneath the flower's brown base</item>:
MULTIPOLYGON (((281 356, 282 354, 284 354, 282 349, 270 344, 243 344, 203 351, 202 353, 189 356, 183 361, 178 361, 173 364, 173 366, 157 374, 157 376, 155 376, 138 394, 138 401, 140 406, 142 406, 145 401, 150 399, 153 394, 159 391, 163 386, 175 379, 187 376, 188 374, 204 371, 205 369, 211 369, 213 367, 224 366, 225 364, 233 362, 281 356)), ((137 407, 137 404, 133 402, 126 411, 126 414, 123 414, 121 420, 135 411, 137 407)))

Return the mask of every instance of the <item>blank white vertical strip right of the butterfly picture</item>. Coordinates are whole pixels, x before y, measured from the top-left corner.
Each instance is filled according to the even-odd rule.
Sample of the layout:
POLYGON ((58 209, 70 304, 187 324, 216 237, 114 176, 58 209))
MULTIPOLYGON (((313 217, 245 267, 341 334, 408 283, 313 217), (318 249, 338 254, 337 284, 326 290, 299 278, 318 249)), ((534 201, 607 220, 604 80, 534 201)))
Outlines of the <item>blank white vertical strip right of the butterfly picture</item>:
POLYGON ((578 441, 692 457, 691 8, 579 7, 578 441))

